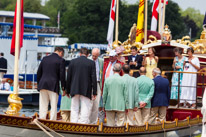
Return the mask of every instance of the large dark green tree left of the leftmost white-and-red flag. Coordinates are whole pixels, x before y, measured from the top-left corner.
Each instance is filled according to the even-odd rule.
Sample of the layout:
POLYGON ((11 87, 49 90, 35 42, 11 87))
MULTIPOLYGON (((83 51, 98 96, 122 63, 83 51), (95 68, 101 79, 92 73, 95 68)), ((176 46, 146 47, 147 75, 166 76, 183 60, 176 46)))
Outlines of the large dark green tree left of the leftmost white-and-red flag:
POLYGON ((64 33, 70 43, 105 43, 110 1, 77 0, 64 14, 64 33))

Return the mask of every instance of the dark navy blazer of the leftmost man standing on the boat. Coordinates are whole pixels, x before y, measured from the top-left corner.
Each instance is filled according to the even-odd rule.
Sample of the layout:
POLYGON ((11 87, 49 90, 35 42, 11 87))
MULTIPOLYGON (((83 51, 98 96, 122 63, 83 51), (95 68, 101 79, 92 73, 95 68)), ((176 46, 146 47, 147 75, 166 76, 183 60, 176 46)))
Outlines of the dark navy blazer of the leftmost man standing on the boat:
POLYGON ((59 82, 65 89, 65 60, 53 53, 41 61, 37 71, 38 91, 46 89, 59 93, 59 82))

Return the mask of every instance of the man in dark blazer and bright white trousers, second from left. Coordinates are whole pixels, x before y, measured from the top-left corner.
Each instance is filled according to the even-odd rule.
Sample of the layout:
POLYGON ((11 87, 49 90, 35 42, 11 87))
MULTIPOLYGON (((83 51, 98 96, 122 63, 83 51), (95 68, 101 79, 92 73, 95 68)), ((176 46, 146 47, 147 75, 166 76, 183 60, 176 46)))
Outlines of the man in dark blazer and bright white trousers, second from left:
POLYGON ((89 124, 91 100, 97 96, 95 62, 87 59, 88 54, 88 49, 81 48, 80 57, 71 61, 67 73, 66 91, 72 97, 72 123, 89 124))

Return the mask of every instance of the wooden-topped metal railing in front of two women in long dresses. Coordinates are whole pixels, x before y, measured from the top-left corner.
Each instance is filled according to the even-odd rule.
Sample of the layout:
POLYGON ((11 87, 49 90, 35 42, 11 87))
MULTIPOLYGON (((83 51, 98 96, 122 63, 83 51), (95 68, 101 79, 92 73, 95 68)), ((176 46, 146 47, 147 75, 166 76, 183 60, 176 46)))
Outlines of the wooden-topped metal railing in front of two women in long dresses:
MULTIPOLYGON (((205 89, 205 76, 206 76, 206 72, 181 72, 181 71, 163 71, 162 74, 167 76, 167 74, 170 74, 170 73, 178 73, 178 85, 172 85, 171 84, 171 87, 178 87, 178 98, 177 99, 174 99, 174 100, 178 100, 178 108, 180 107, 180 100, 186 100, 186 99, 180 99, 180 89, 182 87, 191 87, 191 88, 196 88, 196 99, 195 100, 186 100, 186 101, 195 101, 196 102, 196 106, 195 108, 197 109, 197 93, 198 93, 198 88, 202 88, 202 95, 201 97, 203 97, 203 94, 204 94, 204 89, 205 89), (182 86, 180 85, 180 74, 196 74, 197 77, 196 77, 196 86, 182 86), (201 76, 201 83, 198 83, 198 76, 201 76)), ((172 83, 172 81, 171 81, 172 83)), ((172 89, 172 88, 171 88, 172 89)), ((183 92, 182 92, 183 93, 183 92)))

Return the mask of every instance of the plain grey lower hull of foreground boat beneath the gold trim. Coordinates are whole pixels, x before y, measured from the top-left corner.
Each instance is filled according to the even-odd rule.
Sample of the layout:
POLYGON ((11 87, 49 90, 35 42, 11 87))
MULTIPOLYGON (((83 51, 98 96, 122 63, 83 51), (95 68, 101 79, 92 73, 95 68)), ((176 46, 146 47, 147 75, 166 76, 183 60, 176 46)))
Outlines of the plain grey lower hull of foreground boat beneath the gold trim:
MULTIPOLYGON (((125 133, 125 134, 80 134, 80 133, 64 133, 58 132, 65 137, 99 137, 99 136, 118 136, 118 137, 184 137, 184 136, 195 136, 200 134, 202 131, 202 126, 197 125, 188 128, 182 128, 178 130, 166 131, 166 132, 156 132, 156 133, 125 133)), ((20 128, 20 127, 11 127, 0 125, 0 136, 1 137, 48 137, 48 135, 39 129, 29 129, 29 128, 20 128)), ((55 135, 54 135, 55 136, 55 135)))

